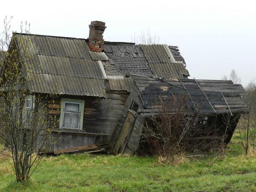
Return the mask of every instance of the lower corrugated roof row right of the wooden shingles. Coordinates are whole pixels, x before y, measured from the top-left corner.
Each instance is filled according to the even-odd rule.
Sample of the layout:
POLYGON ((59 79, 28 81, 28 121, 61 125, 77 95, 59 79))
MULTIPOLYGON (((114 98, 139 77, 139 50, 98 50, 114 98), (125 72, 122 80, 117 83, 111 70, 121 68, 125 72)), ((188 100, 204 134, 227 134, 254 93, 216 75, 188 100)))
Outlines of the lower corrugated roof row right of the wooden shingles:
POLYGON ((176 63, 149 63, 152 71, 157 77, 172 79, 183 79, 183 75, 188 76, 188 72, 182 62, 176 63))

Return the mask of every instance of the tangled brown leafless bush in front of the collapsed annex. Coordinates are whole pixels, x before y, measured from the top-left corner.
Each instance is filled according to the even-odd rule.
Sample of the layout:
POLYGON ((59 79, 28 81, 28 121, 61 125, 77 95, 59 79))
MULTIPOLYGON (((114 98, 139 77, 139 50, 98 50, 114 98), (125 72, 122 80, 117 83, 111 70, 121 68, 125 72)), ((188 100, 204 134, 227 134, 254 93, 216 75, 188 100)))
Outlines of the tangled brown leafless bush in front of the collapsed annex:
POLYGON ((186 107, 187 100, 185 95, 158 96, 143 131, 151 154, 172 159, 184 152, 209 151, 222 142, 215 121, 208 124, 210 117, 186 107))

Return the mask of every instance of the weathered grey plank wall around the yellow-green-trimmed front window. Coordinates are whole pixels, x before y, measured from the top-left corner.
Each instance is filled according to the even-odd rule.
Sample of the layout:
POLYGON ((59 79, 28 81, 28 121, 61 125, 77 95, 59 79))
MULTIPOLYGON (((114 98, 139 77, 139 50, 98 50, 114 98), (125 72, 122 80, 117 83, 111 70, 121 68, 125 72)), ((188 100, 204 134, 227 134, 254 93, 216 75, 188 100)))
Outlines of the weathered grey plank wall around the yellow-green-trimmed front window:
POLYGON ((108 98, 91 96, 62 96, 63 98, 85 100, 83 130, 59 129, 61 96, 42 100, 48 107, 48 114, 56 116, 56 127, 52 135, 56 144, 51 150, 61 150, 84 145, 107 145, 110 136, 122 116, 122 109, 129 93, 110 91, 108 98))

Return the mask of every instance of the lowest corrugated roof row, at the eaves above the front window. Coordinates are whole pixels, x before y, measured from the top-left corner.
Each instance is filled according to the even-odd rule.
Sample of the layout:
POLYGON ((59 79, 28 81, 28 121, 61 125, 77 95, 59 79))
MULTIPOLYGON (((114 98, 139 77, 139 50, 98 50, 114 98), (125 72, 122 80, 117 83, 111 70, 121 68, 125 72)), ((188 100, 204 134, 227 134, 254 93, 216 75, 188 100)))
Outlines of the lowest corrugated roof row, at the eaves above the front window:
POLYGON ((28 86, 32 92, 58 95, 106 97, 104 80, 29 73, 28 86))

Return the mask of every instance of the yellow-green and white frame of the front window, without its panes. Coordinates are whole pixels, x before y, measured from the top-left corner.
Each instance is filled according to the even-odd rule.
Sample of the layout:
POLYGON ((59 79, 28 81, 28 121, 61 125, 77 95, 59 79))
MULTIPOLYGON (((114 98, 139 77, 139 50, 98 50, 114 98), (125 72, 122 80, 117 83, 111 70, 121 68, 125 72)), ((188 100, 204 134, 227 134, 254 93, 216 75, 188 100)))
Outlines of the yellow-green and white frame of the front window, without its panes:
MULTIPOLYGON (((84 111, 85 111, 85 100, 61 98, 60 129, 83 130, 84 111), (68 111, 64 111, 65 103, 79 104, 79 106, 80 106, 80 120, 78 122, 79 124, 78 124, 77 129, 63 127, 64 113, 68 112, 68 111)), ((74 112, 74 113, 77 113, 77 112, 74 112)))

